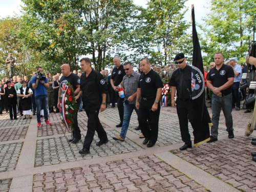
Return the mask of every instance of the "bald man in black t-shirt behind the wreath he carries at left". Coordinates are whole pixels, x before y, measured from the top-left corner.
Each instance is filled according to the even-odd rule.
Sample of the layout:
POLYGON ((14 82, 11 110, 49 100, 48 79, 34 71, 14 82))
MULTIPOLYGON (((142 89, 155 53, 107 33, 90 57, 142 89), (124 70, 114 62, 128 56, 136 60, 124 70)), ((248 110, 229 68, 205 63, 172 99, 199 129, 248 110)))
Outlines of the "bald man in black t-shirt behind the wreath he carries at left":
MULTIPOLYGON (((80 78, 76 74, 71 73, 70 66, 68 64, 63 64, 61 66, 61 73, 63 74, 63 76, 59 80, 58 97, 61 96, 61 90, 62 90, 63 83, 68 83, 68 82, 71 84, 71 86, 74 90, 75 96, 78 95, 78 93, 80 91, 80 78)), ((77 109, 79 109, 80 102, 81 102, 81 99, 76 98, 77 109)), ((58 108, 60 108, 60 101, 58 102, 58 108)), ((73 138, 71 138, 69 140, 69 142, 77 143, 81 139, 81 131, 80 131, 80 128, 79 128, 78 122, 77 122, 77 112, 74 117, 73 127, 74 127, 75 131, 72 131, 73 138)))

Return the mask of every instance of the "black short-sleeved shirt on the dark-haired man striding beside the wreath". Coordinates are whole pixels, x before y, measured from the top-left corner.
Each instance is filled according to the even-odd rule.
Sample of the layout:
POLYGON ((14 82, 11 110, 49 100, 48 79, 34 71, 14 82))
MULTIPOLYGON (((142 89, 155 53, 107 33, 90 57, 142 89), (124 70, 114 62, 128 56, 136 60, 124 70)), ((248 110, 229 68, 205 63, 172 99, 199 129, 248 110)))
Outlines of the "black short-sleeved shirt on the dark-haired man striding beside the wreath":
POLYGON ((102 103, 102 94, 108 94, 104 77, 94 70, 88 76, 86 76, 86 73, 81 75, 80 90, 82 91, 82 101, 85 110, 99 109, 102 103))

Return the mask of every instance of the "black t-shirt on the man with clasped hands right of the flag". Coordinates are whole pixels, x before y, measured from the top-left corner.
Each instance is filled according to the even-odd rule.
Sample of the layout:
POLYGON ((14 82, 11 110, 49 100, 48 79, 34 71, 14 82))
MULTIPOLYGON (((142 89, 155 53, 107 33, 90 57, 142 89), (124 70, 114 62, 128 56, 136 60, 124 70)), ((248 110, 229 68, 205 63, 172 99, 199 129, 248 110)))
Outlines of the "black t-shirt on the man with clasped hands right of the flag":
MULTIPOLYGON (((225 84, 230 77, 234 77, 233 68, 224 64, 219 70, 214 67, 207 74, 207 80, 211 81, 212 86, 214 86, 215 88, 223 86, 223 84, 225 84)), ((225 90, 222 90, 221 93, 224 95, 232 93, 232 86, 225 90)))

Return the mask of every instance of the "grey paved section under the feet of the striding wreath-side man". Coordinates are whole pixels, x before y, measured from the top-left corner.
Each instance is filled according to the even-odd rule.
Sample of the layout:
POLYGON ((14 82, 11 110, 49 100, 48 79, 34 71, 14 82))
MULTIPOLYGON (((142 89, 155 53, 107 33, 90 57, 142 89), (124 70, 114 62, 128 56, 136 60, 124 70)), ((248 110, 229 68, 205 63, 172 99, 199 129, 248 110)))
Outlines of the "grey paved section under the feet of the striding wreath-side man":
MULTIPOLYGON (((118 135, 118 132, 115 130, 106 131, 106 133, 109 139, 114 137, 115 135, 118 135)), ((120 148, 125 148, 125 146, 127 149, 125 153, 129 153, 131 152, 131 150, 143 150, 142 147, 132 142, 128 138, 121 143, 110 139, 108 143, 102 146, 96 146, 96 142, 98 142, 98 137, 97 134, 95 134, 90 149, 91 154, 81 155, 78 153, 78 151, 81 150, 83 147, 82 140, 77 142, 76 144, 73 144, 68 142, 69 137, 70 136, 37 140, 35 167, 101 157, 98 151, 103 151, 105 156, 121 154, 124 152, 122 152, 120 148)), ((84 138, 84 135, 82 136, 82 138, 84 138)), ((127 168, 126 165, 120 166, 118 166, 119 170, 120 168, 127 168)), ((99 167, 97 167, 97 169, 101 170, 99 167)))

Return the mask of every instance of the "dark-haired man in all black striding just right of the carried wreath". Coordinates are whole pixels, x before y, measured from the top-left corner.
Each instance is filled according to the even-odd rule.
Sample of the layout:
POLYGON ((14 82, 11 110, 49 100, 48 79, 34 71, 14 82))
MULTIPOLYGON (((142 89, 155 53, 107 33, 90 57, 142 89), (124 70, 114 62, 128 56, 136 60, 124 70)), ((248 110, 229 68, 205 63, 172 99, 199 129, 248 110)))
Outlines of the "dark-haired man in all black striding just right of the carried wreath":
POLYGON ((81 58, 79 60, 82 71, 81 88, 76 98, 82 95, 83 107, 88 117, 88 130, 86 138, 84 138, 83 148, 80 154, 90 154, 90 146, 93 141, 95 131, 98 133, 100 146, 109 142, 108 136, 99 121, 99 111, 106 109, 106 94, 108 93, 107 83, 103 76, 92 69, 92 63, 89 58, 81 58))

